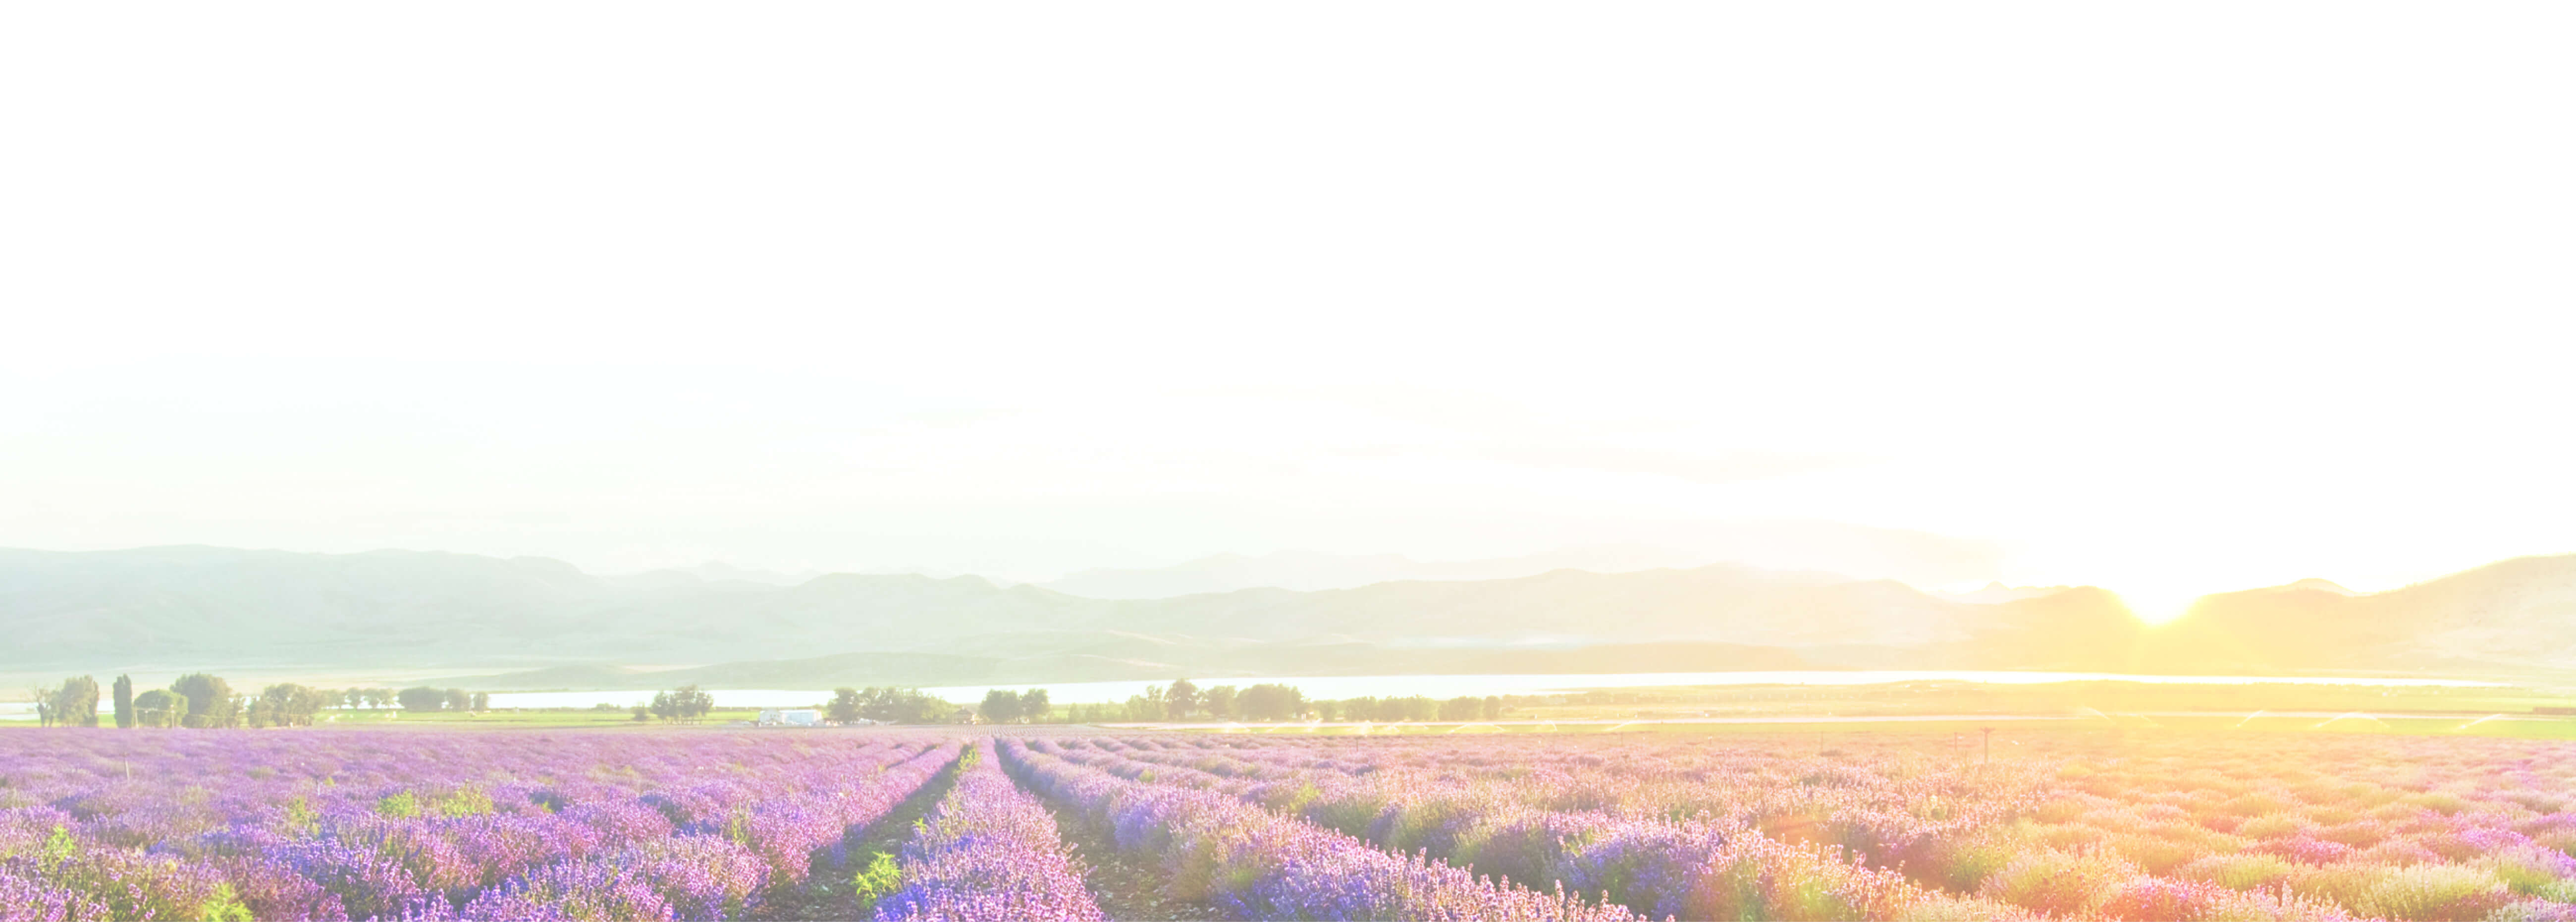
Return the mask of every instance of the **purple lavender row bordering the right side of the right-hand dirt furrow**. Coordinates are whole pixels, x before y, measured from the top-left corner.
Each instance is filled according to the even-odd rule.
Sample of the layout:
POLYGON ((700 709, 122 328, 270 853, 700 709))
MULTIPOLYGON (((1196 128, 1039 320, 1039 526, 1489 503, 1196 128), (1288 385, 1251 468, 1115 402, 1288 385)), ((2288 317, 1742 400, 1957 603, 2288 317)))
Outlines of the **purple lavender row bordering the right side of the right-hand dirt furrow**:
POLYGON ((1110 775, 999 742, 1028 788, 1110 832, 1162 868, 1167 896, 1229 919, 1636 919, 1566 894, 1540 894, 1401 858, 1213 791, 1110 775))

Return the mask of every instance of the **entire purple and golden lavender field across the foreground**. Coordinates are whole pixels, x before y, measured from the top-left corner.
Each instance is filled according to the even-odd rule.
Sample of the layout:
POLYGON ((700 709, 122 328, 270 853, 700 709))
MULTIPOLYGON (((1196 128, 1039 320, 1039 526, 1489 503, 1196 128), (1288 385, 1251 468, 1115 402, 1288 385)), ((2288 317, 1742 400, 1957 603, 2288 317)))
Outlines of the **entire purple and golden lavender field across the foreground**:
POLYGON ((2576 919, 2576 744, 10 731, 0 919, 2576 919))

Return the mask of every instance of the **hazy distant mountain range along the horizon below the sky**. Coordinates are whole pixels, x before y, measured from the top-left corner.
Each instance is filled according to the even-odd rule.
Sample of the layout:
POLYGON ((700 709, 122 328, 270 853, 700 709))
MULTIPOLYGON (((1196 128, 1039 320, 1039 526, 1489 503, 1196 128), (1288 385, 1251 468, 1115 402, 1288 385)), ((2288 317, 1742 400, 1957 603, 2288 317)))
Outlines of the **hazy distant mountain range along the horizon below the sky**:
POLYGON ((2097 587, 1940 597, 1891 579, 1736 564, 1146 600, 981 577, 690 577, 420 551, 0 551, 0 636, 10 639, 0 672, 407 667, 492 675, 482 688, 680 677, 827 688, 1839 667, 2576 670, 2576 556, 2512 559, 2375 595, 2324 579, 2208 595, 2156 628, 2097 587), (711 667, 618 667, 647 662, 711 667))

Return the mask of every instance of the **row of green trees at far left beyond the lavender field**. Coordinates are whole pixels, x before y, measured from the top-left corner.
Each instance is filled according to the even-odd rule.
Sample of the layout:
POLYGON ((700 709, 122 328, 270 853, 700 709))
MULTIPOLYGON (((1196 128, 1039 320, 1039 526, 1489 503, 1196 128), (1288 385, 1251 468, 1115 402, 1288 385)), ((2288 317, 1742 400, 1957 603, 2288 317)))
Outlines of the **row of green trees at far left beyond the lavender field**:
MULTIPOLYGON (((111 713, 118 729, 131 726, 185 726, 185 729, 263 729, 312 726, 327 708, 381 708, 399 703, 404 711, 482 711, 492 703, 487 693, 459 688, 309 688, 276 682, 258 693, 237 693, 232 682, 209 672, 180 675, 170 688, 134 693, 134 677, 118 675, 111 685, 111 713)), ((98 677, 75 675, 59 688, 28 688, 36 698, 39 726, 100 726, 98 677)))

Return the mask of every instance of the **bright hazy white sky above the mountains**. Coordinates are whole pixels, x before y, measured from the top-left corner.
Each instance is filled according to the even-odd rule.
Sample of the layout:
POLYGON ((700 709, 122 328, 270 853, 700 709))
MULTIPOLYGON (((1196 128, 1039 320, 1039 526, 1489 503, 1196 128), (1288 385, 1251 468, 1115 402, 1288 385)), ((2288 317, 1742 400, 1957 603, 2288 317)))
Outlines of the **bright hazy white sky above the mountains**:
POLYGON ((0 546, 2576 551, 2566 5, 0 10, 0 546))

